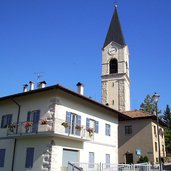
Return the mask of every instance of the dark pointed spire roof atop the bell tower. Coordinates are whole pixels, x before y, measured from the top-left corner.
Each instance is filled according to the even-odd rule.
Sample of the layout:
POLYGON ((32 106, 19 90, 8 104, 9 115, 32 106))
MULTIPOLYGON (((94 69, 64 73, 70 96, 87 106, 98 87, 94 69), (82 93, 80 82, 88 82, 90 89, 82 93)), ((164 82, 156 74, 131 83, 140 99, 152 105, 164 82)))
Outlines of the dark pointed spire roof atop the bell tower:
POLYGON ((125 45, 124 36, 122 33, 117 7, 115 6, 114 14, 110 22, 109 30, 103 45, 103 48, 106 47, 109 43, 116 42, 120 45, 125 45))

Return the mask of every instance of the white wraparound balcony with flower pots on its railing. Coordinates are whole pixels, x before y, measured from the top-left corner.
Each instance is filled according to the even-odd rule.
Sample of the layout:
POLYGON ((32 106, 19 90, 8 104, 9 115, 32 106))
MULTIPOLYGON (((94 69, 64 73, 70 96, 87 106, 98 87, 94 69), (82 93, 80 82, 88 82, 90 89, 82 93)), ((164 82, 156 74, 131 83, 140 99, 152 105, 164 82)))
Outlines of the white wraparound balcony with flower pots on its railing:
POLYGON ((39 123, 33 122, 19 122, 12 123, 7 128, 8 137, 20 137, 20 136, 47 136, 53 135, 69 139, 77 139, 79 141, 89 141, 94 139, 94 131, 89 128, 86 129, 83 125, 76 125, 73 123, 67 123, 61 119, 55 119, 54 121, 46 121, 39 123))

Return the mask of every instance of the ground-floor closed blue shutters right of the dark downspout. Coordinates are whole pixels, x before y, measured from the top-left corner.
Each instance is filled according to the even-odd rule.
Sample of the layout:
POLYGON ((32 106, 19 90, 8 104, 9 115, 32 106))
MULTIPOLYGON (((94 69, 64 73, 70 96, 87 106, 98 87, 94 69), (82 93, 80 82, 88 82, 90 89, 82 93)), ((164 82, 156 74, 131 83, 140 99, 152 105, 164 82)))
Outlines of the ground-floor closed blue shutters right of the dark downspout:
POLYGON ((33 158, 34 158, 34 148, 27 148, 25 168, 33 167, 33 158))

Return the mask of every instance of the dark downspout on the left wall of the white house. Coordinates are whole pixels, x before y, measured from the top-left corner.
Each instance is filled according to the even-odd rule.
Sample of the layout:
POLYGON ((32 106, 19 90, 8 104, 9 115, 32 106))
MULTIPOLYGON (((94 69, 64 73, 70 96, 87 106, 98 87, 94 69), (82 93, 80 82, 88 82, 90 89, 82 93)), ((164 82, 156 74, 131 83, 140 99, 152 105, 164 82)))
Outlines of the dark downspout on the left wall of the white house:
MULTIPOLYGON (((21 105, 19 103, 17 103, 14 99, 11 99, 11 100, 18 106, 17 124, 16 124, 16 134, 17 134, 21 105)), ((16 152, 16 144, 17 144, 17 140, 16 140, 16 138, 14 138, 14 149, 13 149, 13 156, 12 156, 11 171, 14 171, 14 159, 15 159, 15 152, 16 152)))

